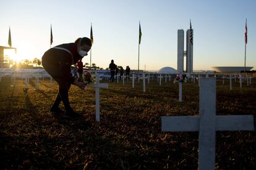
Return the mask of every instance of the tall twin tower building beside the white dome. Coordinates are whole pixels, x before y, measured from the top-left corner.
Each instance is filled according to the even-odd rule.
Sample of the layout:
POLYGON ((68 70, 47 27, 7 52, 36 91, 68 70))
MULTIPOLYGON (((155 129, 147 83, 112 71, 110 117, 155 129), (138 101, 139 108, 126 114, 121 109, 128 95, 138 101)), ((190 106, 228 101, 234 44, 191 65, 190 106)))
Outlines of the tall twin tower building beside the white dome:
POLYGON ((187 30, 187 46, 184 51, 184 30, 177 31, 177 71, 186 73, 190 77, 193 73, 193 30, 187 30), (186 57, 186 70, 184 70, 184 57, 186 57))

